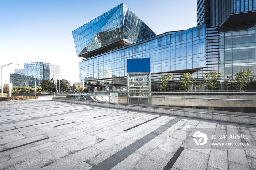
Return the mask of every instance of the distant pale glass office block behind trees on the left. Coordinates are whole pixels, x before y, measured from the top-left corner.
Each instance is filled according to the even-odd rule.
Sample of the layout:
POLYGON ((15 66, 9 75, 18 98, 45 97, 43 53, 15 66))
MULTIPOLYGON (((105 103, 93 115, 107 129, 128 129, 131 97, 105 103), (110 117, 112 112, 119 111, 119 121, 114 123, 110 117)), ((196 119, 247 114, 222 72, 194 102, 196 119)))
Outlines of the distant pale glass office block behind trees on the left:
POLYGON ((44 63, 33 62, 24 63, 24 69, 15 69, 15 73, 10 73, 10 82, 13 86, 37 86, 40 85, 42 80, 57 81, 60 76, 60 66, 44 63))

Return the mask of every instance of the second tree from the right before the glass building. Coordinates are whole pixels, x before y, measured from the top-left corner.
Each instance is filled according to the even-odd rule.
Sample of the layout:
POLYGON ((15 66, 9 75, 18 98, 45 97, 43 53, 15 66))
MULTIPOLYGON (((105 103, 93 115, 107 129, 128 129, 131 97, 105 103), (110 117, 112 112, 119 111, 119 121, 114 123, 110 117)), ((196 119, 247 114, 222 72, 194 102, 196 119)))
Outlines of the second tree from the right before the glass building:
POLYGON ((206 89, 213 91, 216 88, 219 88, 220 78, 223 73, 219 73, 217 71, 212 72, 206 72, 203 76, 204 82, 202 82, 203 85, 205 85, 206 89))

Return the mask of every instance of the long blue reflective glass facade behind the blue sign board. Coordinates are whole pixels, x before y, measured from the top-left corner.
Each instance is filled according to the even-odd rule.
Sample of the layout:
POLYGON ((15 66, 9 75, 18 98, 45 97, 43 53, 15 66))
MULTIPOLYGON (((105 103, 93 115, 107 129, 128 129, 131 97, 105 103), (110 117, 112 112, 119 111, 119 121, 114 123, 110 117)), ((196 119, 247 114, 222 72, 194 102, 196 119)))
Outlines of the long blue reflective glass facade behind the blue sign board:
POLYGON ((84 59, 79 63, 80 81, 84 78, 91 84, 91 80, 127 76, 127 59, 134 58, 151 58, 151 73, 199 70, 206 66, 205 43, 205 25, 158 35, 84 59))

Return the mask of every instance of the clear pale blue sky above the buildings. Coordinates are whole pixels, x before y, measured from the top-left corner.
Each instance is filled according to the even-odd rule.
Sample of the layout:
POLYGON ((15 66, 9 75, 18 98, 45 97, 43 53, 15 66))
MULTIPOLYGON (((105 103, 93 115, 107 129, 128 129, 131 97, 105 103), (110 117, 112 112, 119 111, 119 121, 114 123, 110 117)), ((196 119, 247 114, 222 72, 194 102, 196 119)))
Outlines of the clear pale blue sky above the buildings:
POLYGON ((196 26, 196 0, 0 0, 3 83, 25 62, 60 66, 60 78, 79 81, 72 31, 124 3, 157 35, 196 26))

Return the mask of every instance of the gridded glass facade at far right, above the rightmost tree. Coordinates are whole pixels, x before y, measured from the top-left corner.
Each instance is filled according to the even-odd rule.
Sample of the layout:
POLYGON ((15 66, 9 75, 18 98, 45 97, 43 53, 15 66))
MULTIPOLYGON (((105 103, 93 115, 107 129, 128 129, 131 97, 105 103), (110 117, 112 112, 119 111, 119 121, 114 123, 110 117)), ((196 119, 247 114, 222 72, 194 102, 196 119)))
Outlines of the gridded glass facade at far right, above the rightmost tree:
POLYGON ((256 24, 221 27, 219 38, 222 79, 243 69, 256 70, 256 24))

